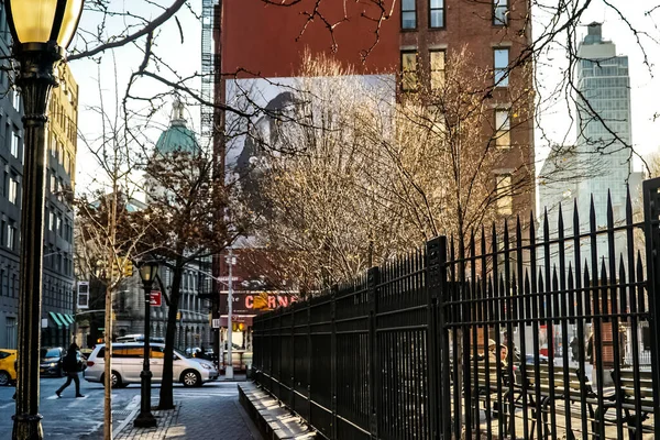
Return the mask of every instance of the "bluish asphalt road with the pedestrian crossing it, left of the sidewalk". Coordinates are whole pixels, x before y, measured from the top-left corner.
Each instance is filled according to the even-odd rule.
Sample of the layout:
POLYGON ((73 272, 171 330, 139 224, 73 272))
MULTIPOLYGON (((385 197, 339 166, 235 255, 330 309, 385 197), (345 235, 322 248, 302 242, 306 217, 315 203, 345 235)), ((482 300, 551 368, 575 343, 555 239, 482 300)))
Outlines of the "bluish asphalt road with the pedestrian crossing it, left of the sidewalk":
MULTIPOLYGON (((46 439, 85 439, 97 440, 103 438, 103 387, 80 381, 82 398, 75 398, 75 386, 72 383, 57 398, 55 391, 65 382, 65 378, 41 378, 40 413, 43 416, 42 426, 46 439)), ((201 388, 184 388, 179 384, 174 386, 174 399, 183 402, 184 407, 209 398, 231 400, 238 403, 235 383, 213 382, 205 384, 201 388), (189 404, 186 405, 186 402, 189 404)), ((0 387, 0 440, 10 440, 14 414, 13 386, 0 387)), ((160 385, 152 389, 152 404, 157 403, 160 385)), ((228 402, 229 403, 229 402, 228 402)), ((233 406, 233 405, 232 405, 233 406)), ((130 385, 127 388, 112 391, 112 428, 116 430, 122 421, 140 407, 140 385, 130 385)))

